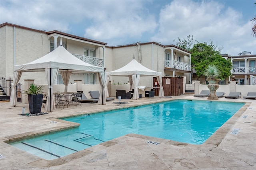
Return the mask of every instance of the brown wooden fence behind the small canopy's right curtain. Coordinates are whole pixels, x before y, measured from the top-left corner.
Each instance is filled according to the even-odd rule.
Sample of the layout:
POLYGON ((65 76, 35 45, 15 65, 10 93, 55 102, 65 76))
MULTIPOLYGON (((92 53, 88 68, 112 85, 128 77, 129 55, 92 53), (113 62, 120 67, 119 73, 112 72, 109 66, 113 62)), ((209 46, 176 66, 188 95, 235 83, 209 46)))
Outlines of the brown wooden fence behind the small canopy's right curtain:
MULTIPOLYGON (((183 93, 183 77, 162 77, 164 96, 180 96, 183 93)), ((159 94, 159 84, 156 77, 153 78, 155 96, 159 94)))

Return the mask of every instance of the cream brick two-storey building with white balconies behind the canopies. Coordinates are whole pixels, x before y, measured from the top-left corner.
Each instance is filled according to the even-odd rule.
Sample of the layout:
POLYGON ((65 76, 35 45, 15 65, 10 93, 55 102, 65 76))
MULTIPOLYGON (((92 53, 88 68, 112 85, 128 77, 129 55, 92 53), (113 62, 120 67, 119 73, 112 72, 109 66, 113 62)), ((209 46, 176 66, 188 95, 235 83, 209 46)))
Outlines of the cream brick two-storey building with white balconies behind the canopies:
MULTIPOLYGON (((133 58, 147 68, 162 72, 162 76, 186 76, 191 82, 191 52, 176 45, 162 45, 156 42, 134 43, 129 45, 107 46, 107 43, 71 35, 61 31, 42 31, 15 25, 0 24, 0 77, 13 78, 14 65, 34 61, 53 51, 60 41, 72 55, 78 59, 112 71, 129 63, 133 58)), ((34 79, 36 84, 46 84, 44 72, 24 72, 20 78, 34 79)), ((81 80, 82 84, 98 84, 98 77, 93 73, 74 73, 70 83, 81 80)), ((112 77, 112 83, 128 83, 128 79, 112 77)), ((62 84, 58 75, 56 84, 62 84)), ((142 78, 140 85, 152 87, 153 78, 142 78)))

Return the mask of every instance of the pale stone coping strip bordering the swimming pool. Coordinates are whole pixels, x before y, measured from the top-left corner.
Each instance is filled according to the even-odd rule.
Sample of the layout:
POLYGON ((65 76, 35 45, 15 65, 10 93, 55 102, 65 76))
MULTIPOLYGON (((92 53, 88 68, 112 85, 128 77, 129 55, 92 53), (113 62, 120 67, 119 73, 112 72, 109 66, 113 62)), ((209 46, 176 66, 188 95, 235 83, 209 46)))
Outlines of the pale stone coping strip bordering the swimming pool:
MULTIPOLYGON (((184 100, 184 99, 171 99, 171 100, 184 100)), ((163 101, 161 101, 161 102, 163 102, 163 101)), ((216 102, 224 102, 224 101, 216 101, 216 102)), ((227 101, 227 102, 230 102, 230 101, 227 101)), ((149 104, 154 104, 154 103, 159 103, 159 102, 152 102, 152 103, 149 103, 149 104)), ((239 102, 239 103, 241 103, 241 102, 239 102)), ((234 126, 236 121, 241 117, 241 115, 246 111, 246 109, 251 104, 251 102, 242 102, 242 103, 245 103, 244 106, 242 106, 236 113, 234 113, 234 115, 232 115, 232 117, 230 117, 230 119, 228 119, 228 121, 226 121, 210 138, 208 138, 205 143, 200 144, 200 145, 181 143, 181 142, 177 142, 177 141, 161 139, 161 138, 156 138, 156 137, 148 137, 148 136, 138 135, 138 134, 127 134, 127 135, 124 135, 124 136, 140 138, 140 139, 155 141, 155 142, 159 142, 159 143, 166 143, 166 144, 169 144, 169 145, 175 145, 175 146, 180 146, 180 147, 189 147, 189 148, 196 147, 198 149, 199 148, 207 149, 207 148, 212 148, 212 147, 218 147, 218 145, 222 142, 224 137, 230 132, 230 130, 232 129, 232 127, 234 126)), ((138 106, 142 106, 142 105, 144 106, 144 104, 140 104, 138 106)), ((127 107, 134 107, 134 106, 127 106, 127 107)), ((120 109, 127 108, 127 107, 122 107, 120 109)), ((114 110, 114 109, 108 109, 108 110, 104 110, 104 111, 109 111, 109 110, 114 110)), ((92 112, 92 113, 98 113, 98 112, 101 112, 101 111, 96 111, 96 112, 92 112)), ((86 114, 89 114, 89 113, 86 113, 86 114)), ((84 114, 79 113, 77 115, 72 115, 72 116, 68 116, 68 117, 79 116, 79 115, 84 115, 84 114)), ((60 117, 60 118, 62 118, 62 117, 60 117)), ((13 141, 24 140, 25 138, 37 137, 37 136, 40 136, 40 135, 47 135, 48 133, 61 131, 61 130, 66 130, 66 129, 78 127, 80 125, 79 123, 65 121, 65 120, 62 120, 62 119, 59 119, 59 118, 55 118, 55 117, 51 117, 50 120, 51 121, 63 122, 63 123, 66 123, 67 125, 64 125, 64 126, 62 125, 62 126, 58 126, 58 127, 55 127, 55 128, 45 128, 45 129, 41 129, 41 130, 38 130, 38 131, 32 131, 32 132, 28 132, 28 133, 22 133, 22 134, 18 134, 18 135, 7 136, 7 137, 4 137, 5 138, 4 143, 6 143, 6 145, 9 145, 8 143, 13 142, 13 141)), ((49 167, 49 166, 58 166, 58 165, 62 165, 62 164, 65 164, 67 162, 70 162, 72 160, 76 160, 77 158, 81 158, 81 157, 83 157, 85 155, 88 155, 88 154, 91 154, 93 152, 98 152, 102 149, 112 147, 112 146, 118 144, 118 139, 119 138, 122 138, 124 136, 112 139, 110 141, 95 145, 93 147, 89 147, 89 148, 84 149, 84 150, 80 150, 80 151, 75 152, 73 154, 69 154, 67 156, 63 156, 61 158, 57 158, 57 159, 54 159, 54 160, 45 160, 43 158, 40 158, 38 156, 35 156, 34 154, 30 154, 30 153, 25 152, 25 151, 23 151, 24 154, 28 157, 34 157, 33 160, 31 160, 31 162, 28 162, 28 160, 24 160, 24 158, 22 158, 22 157, 21 158, 16 158, 16 160, 18 160, 20 162, 23 162, 24 164, 27 164, 29 166, 33 166, 35 168, 46 168, 46 167, 49 167)), ((10 147, 13 147, 13 146, 10 145, 10 147)), ((16 147, 13 147, 13 149, 16 149, 16 147)))

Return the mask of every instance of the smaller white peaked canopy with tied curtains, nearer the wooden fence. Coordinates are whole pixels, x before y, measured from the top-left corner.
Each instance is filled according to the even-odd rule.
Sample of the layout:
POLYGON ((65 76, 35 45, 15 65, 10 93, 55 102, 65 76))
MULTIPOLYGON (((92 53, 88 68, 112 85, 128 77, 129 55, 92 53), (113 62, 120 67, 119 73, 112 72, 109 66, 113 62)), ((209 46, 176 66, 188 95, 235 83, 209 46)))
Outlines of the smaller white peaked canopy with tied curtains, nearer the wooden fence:
MULTIPOLYGON (((141 65, 138 63, 135 59, 133 59, 130 63, 126 64, 122 68, 119 68, 114 71, 106 72, 106 82, 109 81, 110 76, 128 76, 129 81, 133 82, 134 84, 134 95, 133 99, 137 100, 139 98, 139 93, 138 93, 138 86, 140 76, 156 76, 156 79, 160 85, 160 90, 159 90, 159 97, 164 96, 164 89, 162 86, 162 73, 157 72, 154 70, 150 70, 149 68, 146 68, 145 66, 141 65)), ((130 86, 130 90, 132 90, 132 84, 130 86)), ((105 84, 105 93, 108 96, 108 88, 107 88, 107 83, 105 84)))

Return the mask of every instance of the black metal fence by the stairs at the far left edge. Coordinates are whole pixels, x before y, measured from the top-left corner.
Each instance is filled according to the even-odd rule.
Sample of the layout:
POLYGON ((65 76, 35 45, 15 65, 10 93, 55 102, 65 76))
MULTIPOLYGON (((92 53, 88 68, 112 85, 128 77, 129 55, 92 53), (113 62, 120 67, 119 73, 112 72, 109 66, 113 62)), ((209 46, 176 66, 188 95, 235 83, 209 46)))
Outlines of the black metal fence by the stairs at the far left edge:
POLYGON ((0 100, 10 100, 11 78, 0 77, 0 100))

